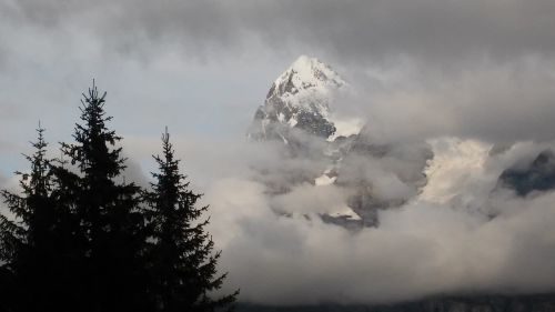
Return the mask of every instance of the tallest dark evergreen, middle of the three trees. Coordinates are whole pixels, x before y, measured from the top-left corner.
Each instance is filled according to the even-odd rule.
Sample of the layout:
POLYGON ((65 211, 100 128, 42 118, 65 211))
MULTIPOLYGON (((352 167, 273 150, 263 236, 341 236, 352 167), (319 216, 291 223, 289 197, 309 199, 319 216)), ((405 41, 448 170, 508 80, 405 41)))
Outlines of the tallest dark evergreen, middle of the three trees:
POLYGON ((75 142, 62 143, 75 172, 64 165, 54 170, 60 202, 65 201, 79 227, 71 242, 71 264, 83 278, 75 285, 75 301, 82 303, 81 311, 143 311, 147 232, 140 188, 120 182, 125 159, 117 147, 121 138, 107 128, 111 117, 104 112, 105 92, 100 94, 93 84, 83 97, 75 142))

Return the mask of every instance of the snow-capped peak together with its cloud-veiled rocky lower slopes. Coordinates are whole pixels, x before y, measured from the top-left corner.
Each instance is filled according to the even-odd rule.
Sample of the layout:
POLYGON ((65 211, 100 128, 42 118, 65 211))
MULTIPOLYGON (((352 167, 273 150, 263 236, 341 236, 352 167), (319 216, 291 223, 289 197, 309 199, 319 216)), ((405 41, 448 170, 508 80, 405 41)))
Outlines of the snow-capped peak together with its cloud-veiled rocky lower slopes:
POLYGON ((398 207, 425 184, 422 172, 431 152, 426 145, 373 143, 360 118, 337 118, 342 92, 352 89, 337 72, 301 56, 272 83, 248 137, 282 143, 289 157, 311 163, 301 170, 287 164, 262 169, 269 193, 286 194, 302 184, 334 185, 349 193, 347 204, 337 211, 324 209, 322 219, 349 228, 374 227, 379 210, 398 207), (387 163, 403 163, 405 170, 384 169, 391 167, 387 163), (387 183, 402 190, 400 194, 389 194, 387 183))

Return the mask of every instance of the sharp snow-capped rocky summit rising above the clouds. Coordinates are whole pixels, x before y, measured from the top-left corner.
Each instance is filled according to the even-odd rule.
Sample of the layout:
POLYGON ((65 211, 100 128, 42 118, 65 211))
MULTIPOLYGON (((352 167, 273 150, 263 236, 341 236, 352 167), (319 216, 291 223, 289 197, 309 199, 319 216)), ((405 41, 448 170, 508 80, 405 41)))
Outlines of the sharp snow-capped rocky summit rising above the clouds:
POLYGON ((254 114, 248 137, 289 143, 291 132, 296 130, 330 141, 356 134, 360 125, 337 122, 332 109, 337 93, 347 89, 349 84, 330 66, 301 56, 273 82, 264 104, 254 114))

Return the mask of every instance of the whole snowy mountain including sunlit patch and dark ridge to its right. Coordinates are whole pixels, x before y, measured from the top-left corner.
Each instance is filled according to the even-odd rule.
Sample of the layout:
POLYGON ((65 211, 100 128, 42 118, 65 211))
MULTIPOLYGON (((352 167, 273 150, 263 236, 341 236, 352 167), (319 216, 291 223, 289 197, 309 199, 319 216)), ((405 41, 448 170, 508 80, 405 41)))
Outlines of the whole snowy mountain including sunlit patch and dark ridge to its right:
MULTIPOLYGON (((548 151, 519 168, 504 163, 505 150, 495 152, 473 140, 375 142, 371 127, 336 118, 342 92, 352 90, 337 72, 302 56, 272 83, 248 132, 251 141, 278 142, 285 151, 279 163, 259 170, 268 193, 286 197, 300 188, 335 188, 345 194, 342 204, 321 208, 324 222, 377 227, 380 211, 411 201, 482 210, 493 189, 526 195, 555 188, 555 157, 548 151)), ((296 213, 281 211, 279 204, 275 209, 296 213)))

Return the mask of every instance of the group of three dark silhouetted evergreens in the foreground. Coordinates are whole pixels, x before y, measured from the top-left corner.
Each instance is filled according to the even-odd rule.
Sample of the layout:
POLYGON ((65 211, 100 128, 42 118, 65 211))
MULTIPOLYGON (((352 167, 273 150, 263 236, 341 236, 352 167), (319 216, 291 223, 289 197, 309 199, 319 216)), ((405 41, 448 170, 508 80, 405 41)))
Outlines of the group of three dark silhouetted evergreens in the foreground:
POLYGON ((105 92, 83 94, 72 143, 49 159, 39 125, 21 192, 2 191, 0 311, 220 311, 225 279, 168 131, 143 190, 123 177, 105 92))

